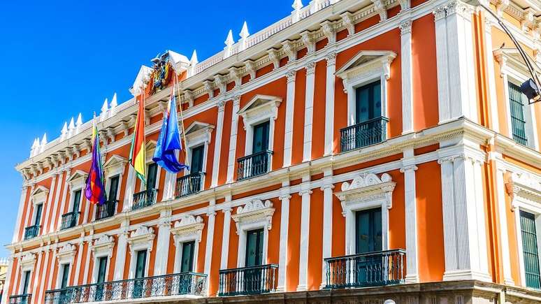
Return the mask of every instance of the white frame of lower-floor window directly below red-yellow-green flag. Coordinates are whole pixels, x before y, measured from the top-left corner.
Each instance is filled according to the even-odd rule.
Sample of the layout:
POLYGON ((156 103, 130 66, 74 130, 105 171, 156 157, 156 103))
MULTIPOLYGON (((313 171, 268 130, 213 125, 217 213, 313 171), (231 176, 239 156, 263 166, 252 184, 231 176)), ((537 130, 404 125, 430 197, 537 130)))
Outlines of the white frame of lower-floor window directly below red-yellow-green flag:
POLYGON ((130 263, 129 263, 129 279, 135 277, 136 270, 136 253, 142 250, 147 251, 147 259, 145 261, 145 277, 148 276, 148 268, 150 268, 150 253, 152 252, 152 245, 154 243, 154 229, 147 226, 139 226, 138 229, 132 231, 128 238, 129 250, 130 250, 130 263))

